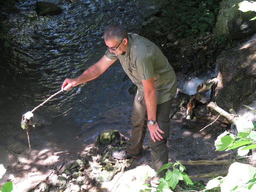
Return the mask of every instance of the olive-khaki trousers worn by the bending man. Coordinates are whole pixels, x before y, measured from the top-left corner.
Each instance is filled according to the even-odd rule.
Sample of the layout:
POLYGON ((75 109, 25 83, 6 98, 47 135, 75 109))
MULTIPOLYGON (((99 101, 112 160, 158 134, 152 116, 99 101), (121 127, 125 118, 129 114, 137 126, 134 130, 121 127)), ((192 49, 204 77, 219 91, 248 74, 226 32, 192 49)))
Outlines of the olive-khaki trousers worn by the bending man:
MULTIPOLYGON (((170 133, 170 109, 172 103, 173 99, 157 105, 156 120, 159 128, 164 131, 164 134, 161 134, 163 139, 154 142, 151 137, 149 138, 149 147, 152 157, 151 167, 156 172, 164 164, 168 163, 168 149, 166 144, 170 133)), ((144 99, 144 92, 142 91, 137 91, 135 95, 131 123, 131 138, 129 140, 129 145, 126 147, 126 152, 131 155, 140 155, 143 150, 142 143, 147 130, 147 107, 144 99)), ((163 177, 164 174, 165 171, 161 171, 161 173, 156 175, 156 178, 159 179, 163 177)))

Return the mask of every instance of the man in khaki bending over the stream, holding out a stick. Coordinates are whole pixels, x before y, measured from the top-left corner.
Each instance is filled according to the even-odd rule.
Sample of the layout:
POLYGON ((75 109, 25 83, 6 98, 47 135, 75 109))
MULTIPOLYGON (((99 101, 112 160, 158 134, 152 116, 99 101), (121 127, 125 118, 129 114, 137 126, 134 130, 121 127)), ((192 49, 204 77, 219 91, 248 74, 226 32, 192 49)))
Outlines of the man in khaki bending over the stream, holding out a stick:
MULTIPOLYGON (((149 128, 152 168, 157 172, 168 163, 167 138, 170 128, 170 109, 176 93, 176 76, 161 50, 146 38, 127 33, 119 24, 111 24, 104 31, 107 45, 105 55, 76 79, 66 79, 62 89, 68 90, 97 78, 117 59, 131 81, 137 85, 131 116, 131 138, 125 149, 114 150, 116 159, 142 156, 142 142, 149 128)), ((162 171, 156 176, 164 176, 162 171)))

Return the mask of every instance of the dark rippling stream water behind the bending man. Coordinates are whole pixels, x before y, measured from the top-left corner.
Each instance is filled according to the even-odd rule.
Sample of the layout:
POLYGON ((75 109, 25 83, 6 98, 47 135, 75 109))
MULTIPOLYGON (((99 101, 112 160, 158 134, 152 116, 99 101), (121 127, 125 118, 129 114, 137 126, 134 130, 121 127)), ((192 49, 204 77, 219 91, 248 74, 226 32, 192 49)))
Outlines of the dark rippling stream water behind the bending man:
MULTIPOLYGON (((21 15, 9 14, 6 22, 17 25, 9 32, 16 44, 7 48, 0 59, 2 64, 9 66, 1 67, 0 164, 8 166, 8 153, 19 154, 29 149, 26 131, 20 124, 22 114, 59 91, 65 78, 77 77, 102 57, 106 51, 102 38, 104 28, 118 22, 128 31, 138 33, 144 17, 154 12, 159 2, 61 1, 61 14, 36 17, 37 22, 26 25, 20 32, 17 31, 18 23, 24 24, 28 20, 21 19, 21 15), (15 71, 11 70, 14 66, 15 71)), ((18 8, 21 14, 35 14, 35 7, 29 1, 18 8)), ((115 107, 130 109, 133 103, 133 96, 128 93, 131 82, 123 81, 124 77, 117 61, 96 80, 62 92, 39 107, 33 114, 35 121, 43 123, 29 130, 31 149, 59 148, 72 143, 85 124, 100 121, 100 114, 115 107)), ((123 118, 129 118, 129 115, 127 112, 123 118)), ((103 131, 102 128, 104 126, 94 130, 83 128, 88 131, 84 141, 92 142, 93 136, 103 131)))

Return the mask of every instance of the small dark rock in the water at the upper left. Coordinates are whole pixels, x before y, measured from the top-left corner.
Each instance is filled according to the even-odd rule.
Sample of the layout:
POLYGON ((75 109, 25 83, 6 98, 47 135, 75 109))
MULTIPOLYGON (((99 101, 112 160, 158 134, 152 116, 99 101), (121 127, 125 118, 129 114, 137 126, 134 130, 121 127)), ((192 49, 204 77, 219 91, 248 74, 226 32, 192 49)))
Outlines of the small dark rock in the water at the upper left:
POLYGON ((39 16, 48 16, 60 14, 62 12, 61 8, 51 2, 36 2, 36 13, 39 16))

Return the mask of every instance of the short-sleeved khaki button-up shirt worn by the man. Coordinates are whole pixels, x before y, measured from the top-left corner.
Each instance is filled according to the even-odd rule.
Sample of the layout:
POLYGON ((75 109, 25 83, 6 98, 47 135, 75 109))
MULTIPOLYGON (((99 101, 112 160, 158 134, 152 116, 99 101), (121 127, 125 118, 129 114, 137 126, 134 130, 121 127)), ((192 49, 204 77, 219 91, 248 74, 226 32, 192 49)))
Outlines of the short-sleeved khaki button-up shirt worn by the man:
POLYGON ((161 50, 147 38, 128 33, 128 47, 124 55, 116 55, 109 49, 105 55, 109 59, 119 59, 125 73, 140 91, 144 91, 142 80, 154 76, 157 104, 174 97, 177 86, 173 67, 161 50))

